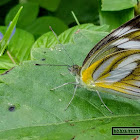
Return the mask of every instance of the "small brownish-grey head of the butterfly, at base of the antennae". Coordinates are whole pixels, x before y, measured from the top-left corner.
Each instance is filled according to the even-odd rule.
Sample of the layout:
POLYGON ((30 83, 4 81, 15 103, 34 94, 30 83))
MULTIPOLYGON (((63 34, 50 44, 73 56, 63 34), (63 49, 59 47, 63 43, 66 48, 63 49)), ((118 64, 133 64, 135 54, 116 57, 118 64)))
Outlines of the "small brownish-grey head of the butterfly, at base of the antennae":
POLYGON ((79 67, 78 65, 72 65, 68 66, 68 70, 72 75, 77 76, 80 75, 81 67, 79 67))

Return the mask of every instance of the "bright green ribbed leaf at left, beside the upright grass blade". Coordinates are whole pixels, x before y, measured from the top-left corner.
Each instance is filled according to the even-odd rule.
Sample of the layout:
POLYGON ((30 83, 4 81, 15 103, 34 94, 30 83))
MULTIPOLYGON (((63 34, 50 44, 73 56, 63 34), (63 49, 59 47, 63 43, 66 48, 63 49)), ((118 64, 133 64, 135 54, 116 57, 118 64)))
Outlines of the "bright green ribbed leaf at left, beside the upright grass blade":
POLYGON ((14 37, 8 45, 8 51, 17 64, 30 59, 30 52, 34 43, 34 37, 29 32, 17 29, 14 37))

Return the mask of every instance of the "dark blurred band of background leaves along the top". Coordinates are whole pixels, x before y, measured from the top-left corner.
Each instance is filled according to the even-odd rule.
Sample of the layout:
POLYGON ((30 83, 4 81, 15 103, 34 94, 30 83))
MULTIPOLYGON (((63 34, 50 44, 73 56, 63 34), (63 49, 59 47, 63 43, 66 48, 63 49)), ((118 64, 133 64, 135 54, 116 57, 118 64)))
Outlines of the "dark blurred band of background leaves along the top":
POLYGON ((137 0, 1 0, 0 25, 8 25, 21 5, 17 27, 35 38, 50 31, 49 26, 60 34, 76 25, 71 11, 80 24, 108 24, 111 30, 133 18, 138 7, 137 0))

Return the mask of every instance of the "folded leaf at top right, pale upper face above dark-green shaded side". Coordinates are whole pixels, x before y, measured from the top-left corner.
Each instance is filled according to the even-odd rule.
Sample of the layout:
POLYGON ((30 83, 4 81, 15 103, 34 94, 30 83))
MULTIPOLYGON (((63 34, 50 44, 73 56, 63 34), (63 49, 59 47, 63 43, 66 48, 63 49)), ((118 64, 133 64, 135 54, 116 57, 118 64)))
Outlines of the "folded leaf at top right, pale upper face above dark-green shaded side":
POLYGON ((133 2, 132 0, 113 1, 113 3, 109 0, 104 0, 102 3, 101 0, 99 1, 100 24, 110 25, 109 31, 116 29, 117 27, 134 17, 134 6, 133 8, 131 8, 131 3, 134 5, 134 2, 136 2, 136 0, 134 0, 133 2), (130 6, 129 8, 126 8, 126 3, 130 6), (121 5, 123 8, 118 5, 121 5))

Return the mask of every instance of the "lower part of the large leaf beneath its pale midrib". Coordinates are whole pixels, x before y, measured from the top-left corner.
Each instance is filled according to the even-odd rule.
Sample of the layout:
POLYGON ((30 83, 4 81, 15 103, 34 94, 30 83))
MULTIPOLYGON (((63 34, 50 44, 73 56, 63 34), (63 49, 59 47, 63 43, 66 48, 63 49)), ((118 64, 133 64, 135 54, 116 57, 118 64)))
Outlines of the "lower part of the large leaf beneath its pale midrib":
POLYGON ((139 127, 140 115, 106 117, 60 124, 29 126, 0 132, 3 139, 47 139, 47 140, 131 140, 134 135, 111 135, 112 126, 139 127), (131 122, 133 123, 130 123, 131 122))

